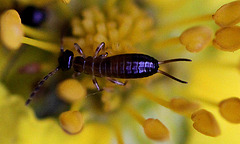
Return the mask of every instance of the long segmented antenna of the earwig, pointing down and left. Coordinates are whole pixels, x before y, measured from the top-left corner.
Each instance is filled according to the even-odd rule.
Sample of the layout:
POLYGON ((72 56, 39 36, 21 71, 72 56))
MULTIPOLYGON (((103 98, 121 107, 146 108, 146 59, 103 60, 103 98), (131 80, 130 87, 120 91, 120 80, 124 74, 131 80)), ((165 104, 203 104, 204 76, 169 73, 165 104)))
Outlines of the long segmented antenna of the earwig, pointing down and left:
POLYGON ((26 105, 28 105, 33 97, 36 95, 36 93, 39 91, 39 89, 41 88, 41 86, 44 84, 44 82, 51 76, 53 76, 57 71, 59 70, 59 67, 57 67, 55 70, 51 71, 50 73, 48 73, 48 75, 46 75, 39 83, 38 85, 35 87, 35 89, 32 91, 32 93, 30 94, 29 98, 26 101, 26 105))

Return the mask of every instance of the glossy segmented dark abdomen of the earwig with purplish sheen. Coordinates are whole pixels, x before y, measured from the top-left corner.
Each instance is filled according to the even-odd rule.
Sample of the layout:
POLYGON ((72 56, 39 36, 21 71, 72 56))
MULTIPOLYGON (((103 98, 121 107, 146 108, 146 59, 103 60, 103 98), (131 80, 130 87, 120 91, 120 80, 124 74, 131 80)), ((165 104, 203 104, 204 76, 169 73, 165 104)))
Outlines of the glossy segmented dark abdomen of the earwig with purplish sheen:
POLYGON ((97 60, 94 75, 112 78, 142 78, 158 70, 158 61, 144 54, 122 54, 97 60))

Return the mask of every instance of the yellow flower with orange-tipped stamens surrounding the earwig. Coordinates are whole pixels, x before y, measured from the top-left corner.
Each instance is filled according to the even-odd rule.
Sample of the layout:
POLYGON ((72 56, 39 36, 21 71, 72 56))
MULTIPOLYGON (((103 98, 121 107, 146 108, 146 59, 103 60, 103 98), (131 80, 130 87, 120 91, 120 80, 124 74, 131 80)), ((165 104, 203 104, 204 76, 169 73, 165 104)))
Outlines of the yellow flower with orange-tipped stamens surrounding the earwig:
POLYGON ((200 2, 185 0, 19 1, 20 7, 47 5, 50 19, 37 28, 23 25, 13 10, 17 8, 8 5, 12 9, 1 14, 4 53, 0 56, 7 62, 0 62, 0 78, 11 91, 2 88, 0 97, 0 120, 9 124, 3 128, 6 133, 0 131, 6 136, 3 143, 31 143, 31 137, 39 138, 34 143, 111 143, 112 139, 129 143, 127 133, 136 143, 239 143, 234 125, 240 116, 239 28, 235 10, 239 2, 215 2, 206 2, 209 8, 203 9, 194 7, 200 2), (8 17, 8 13, 13 16, 8 17), (18 32, 15 28, 20 35, 14 34, 18 32), (49 30, 53 33, 46 33, 49 30), (180 84, 158 74, 130 80, 126 86, 116 86, 102 78, 97 81, 104 91, 96 91, 92 76, 75 73, 73 76, 79 77, 74 80, 69 79, 70 72, 57 72, 50 73, 51 79, 44 85, 44 81, 40 82, 32 103, 34 111, 20 105, 24 103, 22 96, 26 99, 39 79, 30 73, 18 73, 26 61, 43 62, 43 67, 35 72, 43 75, 53 69, 55 52, 60 48, 78 56, 74 50, 77 43, 85 56, 92 56, 101 42, 106 44, 100 51, 103 56, 105 52, 108 56, 134 52, 161 58, 159 61, 191 58, 191 63, 160 65, 161 70, 189 83, 180 84), (5 110, 14 115, 6 115, 5 110), (16 122, 17 127, 13 127, 16 122))

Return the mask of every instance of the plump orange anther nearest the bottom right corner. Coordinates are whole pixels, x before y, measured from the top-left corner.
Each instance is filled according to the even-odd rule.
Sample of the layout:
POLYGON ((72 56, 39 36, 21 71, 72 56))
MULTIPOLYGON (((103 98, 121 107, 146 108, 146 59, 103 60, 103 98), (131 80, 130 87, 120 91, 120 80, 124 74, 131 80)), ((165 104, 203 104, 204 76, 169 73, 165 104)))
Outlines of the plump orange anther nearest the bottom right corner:
POLYGON ((201 109, 193 113, 191 119, 194 122, 193 127, 198 132, 212 137, 220 135, 220 128, 217 121, 210 112, 201 109))

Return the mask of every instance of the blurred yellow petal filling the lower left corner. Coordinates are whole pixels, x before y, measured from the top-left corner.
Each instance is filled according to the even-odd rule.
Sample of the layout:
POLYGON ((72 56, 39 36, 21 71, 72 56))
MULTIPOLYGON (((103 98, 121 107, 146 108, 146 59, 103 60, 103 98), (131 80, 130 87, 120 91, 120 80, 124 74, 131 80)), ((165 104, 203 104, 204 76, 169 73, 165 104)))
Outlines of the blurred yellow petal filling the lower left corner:
POLYGON ((37 119, 31 108, 24 105, 24 99, 7 92, 2 84, 0 91, 0 143, 106 144, 111 141, 110 130, 104 124, 88 123, 84 126, 81 135, 71 136, 61 130, 55 119, 37 119))

